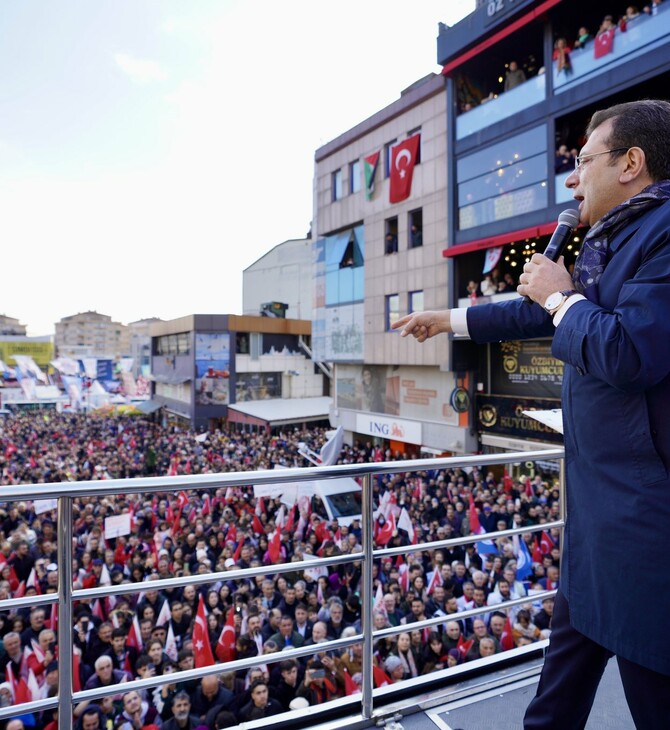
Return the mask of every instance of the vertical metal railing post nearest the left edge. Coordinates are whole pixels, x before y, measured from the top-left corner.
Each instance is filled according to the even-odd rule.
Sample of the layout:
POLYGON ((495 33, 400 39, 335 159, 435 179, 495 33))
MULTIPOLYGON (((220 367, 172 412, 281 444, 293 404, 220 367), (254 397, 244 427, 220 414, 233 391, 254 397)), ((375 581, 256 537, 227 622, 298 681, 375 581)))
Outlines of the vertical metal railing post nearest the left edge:
POLYGON ((72 499, 63 495, 58 498, 59 730, 72 730, 72 653, 72 499))

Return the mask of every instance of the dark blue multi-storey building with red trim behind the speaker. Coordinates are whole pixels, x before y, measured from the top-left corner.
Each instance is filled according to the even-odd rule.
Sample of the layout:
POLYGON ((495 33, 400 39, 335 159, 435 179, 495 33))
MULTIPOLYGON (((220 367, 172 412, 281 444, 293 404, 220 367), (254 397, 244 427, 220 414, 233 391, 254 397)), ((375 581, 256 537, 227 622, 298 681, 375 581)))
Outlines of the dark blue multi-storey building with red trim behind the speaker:
MULTIPOLYGON (((443 305, 470 305, 470 282, 483 282, 495 269, 500 281, 511 278, 512 289, 503 284, 490 299, 517 296, 525 261, 544 250, 558 215, 577 207, 565 187, 574 169, 570 150, 583 144, 593 112, 667 97, 670 3, 650 3, 647 10, 618 22, 625 3, 497 0, 440 28, 449 119, 443 305), (613 12, 614 28, 598 35, 613 12), (508 77, 514 78, 506 83, 508 77)), ((578 229, 566 251, 568 266, 582 238, 578 229)), ((487 299, 481 283, 479 294, 474 301, 487 299)), ((453 341, 451 354, 471 373, 484 449, 561 440, 523 414, 560 407, 563 367, 551 356, 550 341, 482 347, 453 341)))

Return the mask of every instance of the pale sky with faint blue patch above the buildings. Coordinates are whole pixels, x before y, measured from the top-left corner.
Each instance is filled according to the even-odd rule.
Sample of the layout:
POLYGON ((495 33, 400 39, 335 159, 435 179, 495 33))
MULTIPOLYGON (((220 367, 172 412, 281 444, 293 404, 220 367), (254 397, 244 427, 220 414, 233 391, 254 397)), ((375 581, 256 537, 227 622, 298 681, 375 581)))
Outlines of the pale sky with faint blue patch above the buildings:
POLYGON ((310 229, 315 150, 439 72, 474 7, 0 3, 0 314, 241 313, 243 270, 310 229))

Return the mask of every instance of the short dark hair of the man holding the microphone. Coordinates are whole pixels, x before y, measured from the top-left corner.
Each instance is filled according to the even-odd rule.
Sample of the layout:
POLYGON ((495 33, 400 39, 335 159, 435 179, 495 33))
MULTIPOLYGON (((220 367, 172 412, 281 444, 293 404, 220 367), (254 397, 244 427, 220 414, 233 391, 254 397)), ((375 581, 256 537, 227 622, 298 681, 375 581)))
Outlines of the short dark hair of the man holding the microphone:
MULTIPOLYGON (((602 109, 591 117, 586 134, 590 136, 608 119, 612 120, 612 132, 607 141, 609 147, 612 149, 640 147, 644 151, 651 179, 658 181, 670 178, 669 102, 643 99, 602 109)), ((620 154, 623 154, 623 151, 612 153, 613 156, 620 154)))

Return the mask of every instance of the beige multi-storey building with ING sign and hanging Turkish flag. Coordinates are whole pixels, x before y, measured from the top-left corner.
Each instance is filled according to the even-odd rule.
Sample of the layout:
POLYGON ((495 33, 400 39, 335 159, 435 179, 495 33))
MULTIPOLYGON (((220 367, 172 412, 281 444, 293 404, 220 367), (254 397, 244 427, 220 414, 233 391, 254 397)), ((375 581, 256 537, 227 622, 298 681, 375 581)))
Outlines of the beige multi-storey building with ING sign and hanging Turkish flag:
POLYGON ((390 329, 447 303, 443 77, 421 79, 315 157, 313 346, 333 364, 333 424, 394 451, 473 451, 467 380, 452 372, 446 338, 417 347, 390 329))

